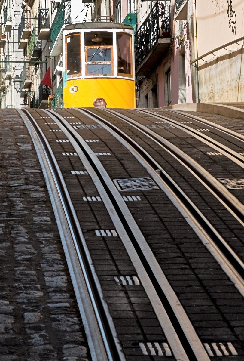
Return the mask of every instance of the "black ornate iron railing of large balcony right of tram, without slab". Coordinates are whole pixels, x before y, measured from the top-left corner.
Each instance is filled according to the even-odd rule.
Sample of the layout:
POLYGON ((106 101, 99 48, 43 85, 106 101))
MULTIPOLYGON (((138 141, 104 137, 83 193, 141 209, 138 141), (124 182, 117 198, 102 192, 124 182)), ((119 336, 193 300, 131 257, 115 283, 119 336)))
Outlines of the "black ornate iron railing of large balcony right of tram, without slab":
POLYGON ((136 68, 151 52, 159 38, 170 37, 170 7, 168 1, 157 1, 135 34, 136 68))

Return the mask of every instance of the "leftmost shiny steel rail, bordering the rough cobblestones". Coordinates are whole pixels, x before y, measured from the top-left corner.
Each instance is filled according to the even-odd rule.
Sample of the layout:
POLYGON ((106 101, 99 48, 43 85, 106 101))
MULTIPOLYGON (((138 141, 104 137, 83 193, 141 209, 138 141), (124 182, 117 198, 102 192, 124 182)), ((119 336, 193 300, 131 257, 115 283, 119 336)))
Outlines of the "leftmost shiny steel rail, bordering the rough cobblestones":
POLYGON ((111 335, 114 331, 110 330, 108 326, 107 310, 104 307, 101 290, 97 287, 98 281, 94 279, 96 276, 94 277, 94 270, 91 267, 92 260, 88 249, 84 247, 85 241, 79 221, 56 158, 45 135, 31 114, 26 109, 19 110, 19 113, 34 141, 39 160, 41 151, 44 153, 40 163, 44 175, 46 175, 45 180, 57 219, 92 360, 125 361, 124 355, 118 352, 116 345, 113 344, 111 335))

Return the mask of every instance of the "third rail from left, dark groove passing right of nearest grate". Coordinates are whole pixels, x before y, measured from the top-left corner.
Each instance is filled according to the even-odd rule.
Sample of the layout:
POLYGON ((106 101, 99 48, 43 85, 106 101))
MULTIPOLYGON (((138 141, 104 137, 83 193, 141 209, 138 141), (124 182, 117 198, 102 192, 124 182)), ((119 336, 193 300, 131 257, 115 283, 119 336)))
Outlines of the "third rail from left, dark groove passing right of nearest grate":
MULTIPOLYGON (((217 262, 221 265, 221 267, 225 270, 228 277, 232 280, 232 282, 235 284, 235 286, 238 288, 239 292, 244 296, 244 264, 240 260, 240 258, 236 255, 236 253, 231 249, 231 247, 225 242, 225 240, 222 238, 222 236, 218 233, 218 231, 212 226, 212 224, 205 218, 205 216, 200 212, 200 210, 196 207, 196 205, 188 198, 188 196, 182 191, 182 189, 173 181, 173 179, 161 168, 161 166, 144 150, 140 145, 138 145, 133 139, 131 139, 127 134, 125 134, 123 131, 121 131, 118 127, 112 125, 109 121, 106 119, 98 116, 97 114, 94 114, 92 111, 88 109, 83 109, 83 112, 92 114, 94 120, 97 120, 99 124, 103 124, 108 129, 115 132, 119 137, 121 137, 123 140, 125 140, 131 147, 128 148, 131 152, 133 152, 132 147, 136 149, 136 151, 146 159, 146 161, 152 166, 152 168, 160 175, 160 179, 163 180, 167 186, 172 189, 175 196, 179 200, 180 203, 182 203, 185 208, 188 210, 186 220, 188 222, 189 217, 191 219, 194 219, 194 225, 192 223, 190 224, 191 227, 194 228, 194 230, 204 230, 204 232, 207 232, 208 240, 206 241, 205 233, 203 237, 200 237, 202 242, 205 244, 205 246, 209 249, 211 254, 214 256, 214 258, 217 260, 217 262), (197 226, 196 226, 197 225, 197 226), (210 244, 210 248, 209 245, 210 244), (216 253, 217 252, 217 253, 216 253), (227 266, 225 267, 224 264, 227 266)), ((111 114, 117 113, 114 111, 106 110, 106 112, 111 114)), ((121 115, 121 114, 119 114, 121 115)), ((120 117, 116 115, 118 118, 123 119, 123 116, 120 117)), ((127 117, 125 117, 127 118, 127 117)), ((130 119, 131 120, 131 119, 130 119)), ((132 123, 130 123, 132 124, 132 123)), ((135 125, 133 125, 136 127, 135 125)), ((140 128, 138 128, 141 130, 140 128)), ((141 130, 142 131, 142 130, 141 130)), ((148 134, 146 134, 149 136, 148 134)), ((151 139, 153 139, 151 136, 149 136, 151 139)), ((158 143, 157 140, 153 139, 158 143)), ((161 145, 160 143, 158 143, 161 145)), ((125 145, 125 144, 124 144, 125 145)), ((125 145, 126 146, 126 145, 125 145)), ((198 233, 199 235, 199 233, 198 233)))

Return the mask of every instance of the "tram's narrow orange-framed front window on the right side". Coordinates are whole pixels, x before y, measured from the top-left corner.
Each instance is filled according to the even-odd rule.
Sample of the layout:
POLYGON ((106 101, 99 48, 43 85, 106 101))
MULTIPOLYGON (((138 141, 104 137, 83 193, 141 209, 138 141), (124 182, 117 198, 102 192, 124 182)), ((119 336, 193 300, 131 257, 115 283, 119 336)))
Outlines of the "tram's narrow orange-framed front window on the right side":
POLYGON ((117 34, 118 75, 132 77, 132 35, 117 34))

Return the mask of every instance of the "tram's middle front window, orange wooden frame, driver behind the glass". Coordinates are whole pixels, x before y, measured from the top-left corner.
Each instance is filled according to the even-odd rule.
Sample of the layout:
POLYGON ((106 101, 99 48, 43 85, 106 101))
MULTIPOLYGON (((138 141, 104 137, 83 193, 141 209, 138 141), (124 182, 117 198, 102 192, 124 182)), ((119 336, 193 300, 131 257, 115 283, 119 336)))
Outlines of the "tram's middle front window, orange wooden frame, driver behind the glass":
POLYGON ((85 33, 85 74, 113 75, 112 33, 100 31, 85 33))

